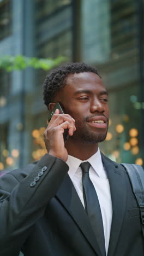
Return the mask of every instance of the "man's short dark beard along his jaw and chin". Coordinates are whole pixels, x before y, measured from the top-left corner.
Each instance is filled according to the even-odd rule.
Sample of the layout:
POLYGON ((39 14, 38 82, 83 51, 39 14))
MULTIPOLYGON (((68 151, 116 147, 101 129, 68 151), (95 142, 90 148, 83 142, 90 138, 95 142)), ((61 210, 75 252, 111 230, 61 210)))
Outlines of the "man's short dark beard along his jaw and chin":
POLYGON ((81 141, 83 144, 96 144, 103 142, 107 135, 109 119, 107 119, 107 129, 105 132, 92 132, 86 127, 86 121, 76 121, 76 131, 71 139, 81 141))

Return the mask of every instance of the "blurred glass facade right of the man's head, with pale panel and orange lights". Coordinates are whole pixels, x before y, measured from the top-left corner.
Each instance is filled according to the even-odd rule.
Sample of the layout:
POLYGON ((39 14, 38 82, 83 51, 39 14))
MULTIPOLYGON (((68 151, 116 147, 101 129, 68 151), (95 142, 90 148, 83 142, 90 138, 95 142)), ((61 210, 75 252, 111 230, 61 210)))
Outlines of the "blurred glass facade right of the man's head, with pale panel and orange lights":
POLYGON ((117 162, 142 162, 138 8, 136 1, 125 0, 83 0, 81 5, 81 58, 99 68, 109 91, 110 127, 100 147, 117 162))

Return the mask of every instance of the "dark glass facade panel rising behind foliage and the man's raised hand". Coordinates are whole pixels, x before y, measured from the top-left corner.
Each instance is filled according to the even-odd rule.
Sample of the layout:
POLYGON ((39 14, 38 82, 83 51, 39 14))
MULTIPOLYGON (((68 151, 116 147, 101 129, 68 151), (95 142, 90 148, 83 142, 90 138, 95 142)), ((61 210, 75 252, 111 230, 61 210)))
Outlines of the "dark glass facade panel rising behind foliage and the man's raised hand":
MULTIPOLYGON (((55 59, 58 56, 64 56, 64 62, 73 60, 73 6, 70 0, 59 1, 35 1, 35 55, 39 58, 55 59)), ((42 85, 47 71, 42 69, 35 71, 35 95, 39 101, 39 95, 42 95, 42 85)), ((43 100, 39 105, 44 105, 43 100)), ((35 107, 35 105, 33 106, 35 107)), ((31 159, 38 160, 46 153, 43 140, 43 133, 47 126, 47 109, 40 111, 34 110, 32 117, 32 151, 31 159)))

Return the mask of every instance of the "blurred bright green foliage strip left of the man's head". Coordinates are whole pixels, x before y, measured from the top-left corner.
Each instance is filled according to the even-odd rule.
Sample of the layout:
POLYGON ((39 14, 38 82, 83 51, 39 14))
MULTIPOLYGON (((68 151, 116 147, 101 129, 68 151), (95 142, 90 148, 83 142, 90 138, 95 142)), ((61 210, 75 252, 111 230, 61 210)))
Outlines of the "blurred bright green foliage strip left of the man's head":
POLYGON ((38 59, 36 57, 26 57, 22 55, 17 56, 3 56, 0 57, 0 69, 5 69, 7 72, 13 70, 23 70, 27 67, 33 67, 35 69, 49 70, 55 66, 58 66, 64 57, 57 57, 56 59, 38 59))

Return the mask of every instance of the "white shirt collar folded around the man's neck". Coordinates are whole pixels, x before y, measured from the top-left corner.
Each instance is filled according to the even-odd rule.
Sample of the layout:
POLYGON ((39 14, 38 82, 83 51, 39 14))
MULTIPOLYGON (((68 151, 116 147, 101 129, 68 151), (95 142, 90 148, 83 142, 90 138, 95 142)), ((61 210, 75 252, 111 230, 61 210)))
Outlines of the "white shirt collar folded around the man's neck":
POLYGON ((101 154, 100 154, 99 148, 97 153, 95 153, 94 155, 91 156, 91 158, 88 158, 85 161, 82 161, 78 158, 74 158, 74 156, 68 155, 67 165, 69 166, 68 174, 70 178, 73 178, 81 162, 89 162, 93 167, 94 171, 98 174, 98 176, 99 177, 101 176, 104 170, 104 167, 103 167, 103 162, 101 160, 101 154))

